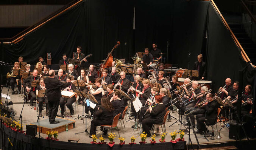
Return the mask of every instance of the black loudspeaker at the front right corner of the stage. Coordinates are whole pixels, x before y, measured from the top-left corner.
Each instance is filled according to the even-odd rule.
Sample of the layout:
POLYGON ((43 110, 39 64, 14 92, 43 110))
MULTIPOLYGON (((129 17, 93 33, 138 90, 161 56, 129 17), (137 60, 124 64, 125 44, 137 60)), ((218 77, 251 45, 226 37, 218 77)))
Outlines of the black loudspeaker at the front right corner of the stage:
MULTIPOLYGON (((244 124, 242 124, 244 125, 244 124)), ((244 131, 242 129, 242 125, 239 123, 237 126, 236 122, 231 122, 229 125, 229 139, 243 139, 245 137, 244 131), (239 137, 237 137, 237 135, 239 137)))

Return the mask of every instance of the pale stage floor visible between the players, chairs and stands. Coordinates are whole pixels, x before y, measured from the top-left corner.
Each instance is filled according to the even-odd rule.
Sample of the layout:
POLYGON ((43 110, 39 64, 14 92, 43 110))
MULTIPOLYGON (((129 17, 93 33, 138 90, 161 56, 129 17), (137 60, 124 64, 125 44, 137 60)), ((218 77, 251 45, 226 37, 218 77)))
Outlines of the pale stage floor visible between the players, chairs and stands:
MULTIPOLYGON (((3 94, 7 94, 7 88, 3 88, 3 91, 2 93, 3 94)), ((11 92, 9 91, 8 94, 11 94, 11 92)), ((13 104, 13 108, 14 110, 17 111, 17 114, 16 116, 14 117, 14 119, 16 119, 16 121, 18 121, 19 119, 19 116, 20 116, 20 112, 21 112, 21 109, 22 109, 22 106, 23 106, 23 102, 22 101, 23 99, 23 96, 20 95, 20 97, 18 96, 18 94, 14 94, 14 95, 11 95, 11 101, 14 103, 13 104)), ((8 100, 9 102, 10 100, 8 100)), ((5 99, 2 99, 2 102, 5 102, 5 99)), ((29 106, 27 103, 25 104, 24 108, 23 108, 23 112, 22 112, 22 121, 23 121, 23 126, 24 126, 24 130, 26 130, 26 125, 27 124, 31 124, 33 122, 36 122, 37 121, 37 115, 36 115, 36 110, 34 109, 31 109, 32 107, 29 106)), ((70 118, 67 118, 67 119, 74 119, 74 118, 77 118, 78 115, 81 116, 83 114, 82 110, 83 110, 83 107, 82 105, 79 105, 79 112, 77 112, 77 110, 75 111, 75 114, 70 117, 70 118)), ((67 112, 69 113, 69 109, 67 108, 67 112)), ((60 114, 60 109, 58 111, 58 114, 60 114)), ((171 113, 171 115, 175 118, 178 119, 179 115, 178 115, 178 112, 177 111, 174 111, 173 113, 171 113)), ((48 119, 48 116, 45 116, 45 110, 42 111, 42 118, 41 120, 43 119, 48 119)), ((126 121, 129 120, 129 115, 127 115, 126 117, 126 121)), ((87 119, 87 130, 88 132, 90 131, 90 125, 91 125, 91 119, 87 119)), ((125 142, 126 143, 129 143, 130 142, 130 138, 131 136, 134 136, 136 137, 137 139, 135 140, 136 143, 139 143, 140 141, 140 137, 139 137, 139 134, 140 134, 140 130, 139 129, 133 129, 131 128, 132 125, 134 125, 134 120, 130 120, 128 122, 125 121, 125 127, 126 127, 126 130, 123 130, 122 127, 121 127, 121 124, 119 122, 118 124, 118 127, 119 129, 121 129, 119 131, 120 133, 120 136, 122 136, 123 138, 125 138, 125 142)), ((169 125, 173 124, 174 122, 176 121, 176 119, 173 119, 171 120, 171 122, 166 122, 165 123, 165 126, 166 126, 166 131, 167 131, 167 136, 166 136, 166 141, 170 141, 171 137, 169 135, 169 133, 177 130, 179 131, 180 130, 180 123, 175 123, 174 125, 172 125, 171 127, 169 127, 169 125)), ((183 119, 184 121, 184 119, 183 119)), ((58 139, 59 141, 66 141, 69 139, 69 138, 79 138, 80 139, 80 143, 89 143, 92 141, 91 138, 89 138, 89 134, 88 133, 80 133, 80 134, 77 134, 75 135, 75 133, 78 133, 78 132, 83 132, 85 130, 85 127, 86 127, 86 123, 85 123, 85 119, 84 119, 84 123, 83 123, 83 120, 80 120, 80 119, 75 119, 75 128, 73 129, 70 129, 69 131, 64 131, 62 133, 59 133, 58 135, 58 139)), ((187 126, 186 126, 187 127, 187 126)), ((217 124, 217 127, 218 127, 218 130, 220 130, 220 128, 222 128, 220 126, 220 124, 218 123, 217 124)), ((142 128, 142 126, 141 126, 142 128)), ((186 129, 183 125, 181 126, 182 129, 186 129)), ((194 128, 194 130, 196 131, 197 129, 194 128)), ((210 132, 212 131, 211 127, 209 127, 209 130, 210 132)), ((116 133, 117 135, 117 138, 115 139, 115 141, 119 141, 118 139, 118 132, 116 130, 112 131, 113 133, 116 133)), ((101 135, 101 131, 99 130, 99 127, 98 127, 98 137, 101 135)), ((215 135, 217 135, 217 131, 216 131, 216 126, 214 125, 214 133, 215 135)), ((214 143, 224 143, 224 142, 229 142, 229 141, 235 141, 233 139, 229 139, 228 138, 228 135, 229 135, 229 129, 227 127, 223 128, 221 131, 220 131, 220 136, 222 136, 221 139, 210 139, 210 137, 208 137, 209 139, 209 142, 205 139, 205 138, 198 138, 198 141, 200 144, 207 144, 207 143, 211 143, 211 144, 214 144, 214 143)), ((41 134, 41 136, 43 138, 46 138, 47 135, 45 134, 41 134)), ((197 136, 201 136, 201 135, 198 135, 197 136)), ((38 137, 38 135, 37 135, 38 137)), ((106 142, 108 142, 108 138, 106 136, 103 136, 105 139, 106 139, 106 142)), ((156 140, 159 140, 161 137, 160 135, 157 135, 156 136, 156 140)), ((177 137, 179 138, 179 137, 177 137)), ((185 140, 187 141, 188 143, 188 135, 185 134, 184 136, 185 140)), ((195 136, 193 134, 193 131, 192 129, 190 129, 190 138, 192 140, 192 143, 193 144, 197 144, 197 141, 195 139, 195 136)), ((149 141, 150 138, 147 138, 147 142, 150 142, 149 141)))

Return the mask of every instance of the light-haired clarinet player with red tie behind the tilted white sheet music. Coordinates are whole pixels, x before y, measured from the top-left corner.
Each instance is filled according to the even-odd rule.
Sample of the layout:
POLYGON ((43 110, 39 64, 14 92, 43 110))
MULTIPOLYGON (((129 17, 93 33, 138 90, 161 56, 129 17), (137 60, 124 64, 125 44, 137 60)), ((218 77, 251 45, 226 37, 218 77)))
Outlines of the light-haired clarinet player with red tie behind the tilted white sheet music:
MULTIPOLYGON (((133 102, 133 100, 135 99, 136 96, 138 96, 139 92, 141 92, 143 90, 143 84, 141 81, 141 78, 139 75, 136 75, 134 77, 134 83, 133 85, 129 88, 130 92, 127 93, 127 95, 131 98, 127 98, 127 97, 123 97, 123 105, 126 106, 127 105, 127 101, 133 102), (134 93, 135 92, 135 93, 134 93)), ((129 90, 128 90, 129 91, 129 90)))

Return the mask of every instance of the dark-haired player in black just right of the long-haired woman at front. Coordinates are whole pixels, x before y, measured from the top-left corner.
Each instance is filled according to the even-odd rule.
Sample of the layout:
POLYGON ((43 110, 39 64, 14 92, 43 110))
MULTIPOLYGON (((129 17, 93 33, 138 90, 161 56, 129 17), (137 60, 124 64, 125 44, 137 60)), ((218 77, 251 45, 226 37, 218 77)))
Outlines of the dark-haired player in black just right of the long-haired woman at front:
POLYGON ((121 93, 119 91, 114 91, 113 97, 111 97, 110 102, 114 107, 114 116, 121 113, 119 119, 122 119, 123 110, 125 107, 123 106, 123 99, 120 98, 121 93))

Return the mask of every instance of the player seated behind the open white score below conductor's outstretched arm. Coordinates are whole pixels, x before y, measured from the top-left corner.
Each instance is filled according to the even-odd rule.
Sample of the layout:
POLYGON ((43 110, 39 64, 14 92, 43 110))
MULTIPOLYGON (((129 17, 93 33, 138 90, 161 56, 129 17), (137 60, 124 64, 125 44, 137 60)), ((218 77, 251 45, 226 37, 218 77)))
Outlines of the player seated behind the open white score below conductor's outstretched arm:
MULTIPOLYGON (((67 77, 66 82, 71 82, 71 77, 67 77)), ((74 92, 76 90, 76 87, 74 84, 71 84, 69 87, 63 88, 64 91, 71 91, 74 92)), ((72 104, 76 101, 76 97, 72 96, 71 98, 67 97, 61 97, 59 99, 59 106, 61 107, 61 116, 64 115, 64 104, 66 103, 67 108, 69 108, 70 115, 74 114, 74 109, 72 107, 72 104)))

